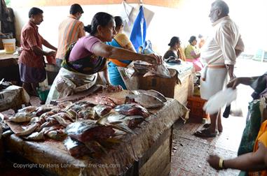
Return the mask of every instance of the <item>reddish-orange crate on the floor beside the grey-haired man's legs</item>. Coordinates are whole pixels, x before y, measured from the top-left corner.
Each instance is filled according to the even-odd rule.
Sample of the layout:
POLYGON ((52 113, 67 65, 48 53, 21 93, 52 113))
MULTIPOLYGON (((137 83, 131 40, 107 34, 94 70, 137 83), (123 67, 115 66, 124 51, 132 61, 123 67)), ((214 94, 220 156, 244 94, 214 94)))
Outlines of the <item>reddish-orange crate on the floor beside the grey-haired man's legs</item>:
POLYGON ((200 98, 200 96, 189 96, 187 108, 190 109, 189 120, 191 122, 201 123, 203 118, 209 118, 206 112, 203 110, 203 105, 205 100, 200 98))

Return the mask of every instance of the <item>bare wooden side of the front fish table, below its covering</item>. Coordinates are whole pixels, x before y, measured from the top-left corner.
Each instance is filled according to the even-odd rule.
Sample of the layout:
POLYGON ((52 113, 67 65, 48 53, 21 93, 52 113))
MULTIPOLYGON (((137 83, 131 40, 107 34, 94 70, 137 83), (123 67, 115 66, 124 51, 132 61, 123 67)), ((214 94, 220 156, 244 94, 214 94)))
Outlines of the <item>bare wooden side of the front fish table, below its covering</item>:
POLYGON ((160 135, 160 138, 153 143, 139 161, 135 161, 125 175, 170 175, 171 154, 172 128, 160 135))

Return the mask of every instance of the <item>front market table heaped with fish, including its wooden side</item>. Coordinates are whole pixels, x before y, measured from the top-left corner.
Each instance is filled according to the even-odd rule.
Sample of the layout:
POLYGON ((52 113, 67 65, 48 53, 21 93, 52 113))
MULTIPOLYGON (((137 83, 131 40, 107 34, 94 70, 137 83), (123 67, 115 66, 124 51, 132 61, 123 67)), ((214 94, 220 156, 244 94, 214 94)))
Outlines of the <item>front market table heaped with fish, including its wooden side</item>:
POLYGON ((37 117, 30 118, 27 129, 16 123, 21 118, 10 117, 15 134, 4 139, 5 147, 56 175, 170 173, 172 124, 188 115, 184 105, 156 91, 72 97, 73 102, 70 96, 57 107, 20 110, 37 117), (62 131, 67 137, 58 135, 62 131))

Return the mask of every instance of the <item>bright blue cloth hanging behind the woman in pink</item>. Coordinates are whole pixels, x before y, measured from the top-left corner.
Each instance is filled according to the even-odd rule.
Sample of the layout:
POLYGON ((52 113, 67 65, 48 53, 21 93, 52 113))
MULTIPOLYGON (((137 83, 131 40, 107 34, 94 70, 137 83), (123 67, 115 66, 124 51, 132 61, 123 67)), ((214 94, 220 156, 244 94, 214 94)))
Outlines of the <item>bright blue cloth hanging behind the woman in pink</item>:
POLYGON ((130 41, 137 52, 139 46, 144 46, 144 41, 146 41, 146 19, 144 18, 143 6, 140 6, 139 13, 133 24, 130 41))

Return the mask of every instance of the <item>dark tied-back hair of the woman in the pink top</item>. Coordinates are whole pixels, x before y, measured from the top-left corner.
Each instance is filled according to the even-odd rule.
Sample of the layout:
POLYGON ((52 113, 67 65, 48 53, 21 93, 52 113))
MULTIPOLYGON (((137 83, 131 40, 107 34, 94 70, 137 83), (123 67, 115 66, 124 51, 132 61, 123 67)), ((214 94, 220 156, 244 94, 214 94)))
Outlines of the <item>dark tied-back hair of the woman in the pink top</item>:
POLYGON ((109 15, 109 13, 96 13, 93 17, 91 24, 87 27, 84 27, 84 30, 90 33, 91 35, 94 35, 97 33, 97 27, 99 25, 101 27, 107 27, 111 20, 114 20, 114 17, 112 15, 109 15))

